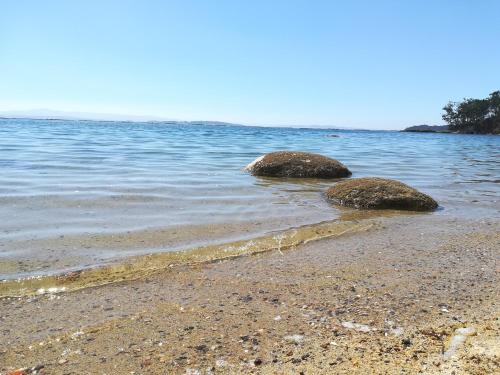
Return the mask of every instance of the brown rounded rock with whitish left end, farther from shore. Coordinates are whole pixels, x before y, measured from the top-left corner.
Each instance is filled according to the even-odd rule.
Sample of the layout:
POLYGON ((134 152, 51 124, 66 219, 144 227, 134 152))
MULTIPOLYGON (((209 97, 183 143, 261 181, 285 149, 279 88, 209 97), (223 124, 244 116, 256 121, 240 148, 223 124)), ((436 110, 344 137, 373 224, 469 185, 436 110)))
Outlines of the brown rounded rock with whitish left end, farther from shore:
POLYGON ((341 162, 323 155, 298 151, 277 151, 265 154, 245 170, 254 176, 339 178, 348 177, 351 172, 341 162))

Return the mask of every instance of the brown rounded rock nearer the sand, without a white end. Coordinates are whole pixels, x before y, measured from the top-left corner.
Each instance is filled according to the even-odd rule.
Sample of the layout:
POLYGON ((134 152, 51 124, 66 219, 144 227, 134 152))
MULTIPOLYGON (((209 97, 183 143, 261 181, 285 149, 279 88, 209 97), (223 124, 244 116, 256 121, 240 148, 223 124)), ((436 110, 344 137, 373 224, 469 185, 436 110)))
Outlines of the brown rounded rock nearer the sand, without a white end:
POLYGON ((437 202, 402 182, 378 177, 342 181, 326 193, 333 203, 355 208, 431 211, 437 202))

